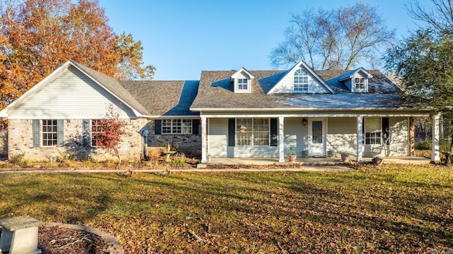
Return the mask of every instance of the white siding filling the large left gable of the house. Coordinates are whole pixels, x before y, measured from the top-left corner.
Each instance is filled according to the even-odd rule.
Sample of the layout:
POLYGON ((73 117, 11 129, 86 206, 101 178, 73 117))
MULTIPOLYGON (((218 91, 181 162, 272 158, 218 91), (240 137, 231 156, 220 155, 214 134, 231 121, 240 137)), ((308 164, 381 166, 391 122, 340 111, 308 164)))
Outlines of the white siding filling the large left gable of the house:
MULTIPOLYGON (((101 86, 71 67, 11 111, 9 119, 96 119, 105 116, 108 105, 120 101, 101 86)), ((120 118, 134 118, 123 105, 120 118)))

